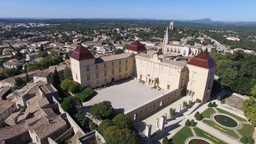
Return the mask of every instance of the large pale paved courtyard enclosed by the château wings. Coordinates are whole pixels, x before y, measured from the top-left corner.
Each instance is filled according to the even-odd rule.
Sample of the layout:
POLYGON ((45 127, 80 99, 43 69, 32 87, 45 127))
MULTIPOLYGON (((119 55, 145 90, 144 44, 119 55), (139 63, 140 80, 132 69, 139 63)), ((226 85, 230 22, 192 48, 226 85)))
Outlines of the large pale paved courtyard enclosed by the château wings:
POLYGON ((104 100, 112 103, 115 112, 124 112, 168 91, 151 89, 150 85, 143 85, 138 80, 126 80, 96 92, 98 94, 91 100, 83 102, 84 112, 88 112, 93 104, 104 100))

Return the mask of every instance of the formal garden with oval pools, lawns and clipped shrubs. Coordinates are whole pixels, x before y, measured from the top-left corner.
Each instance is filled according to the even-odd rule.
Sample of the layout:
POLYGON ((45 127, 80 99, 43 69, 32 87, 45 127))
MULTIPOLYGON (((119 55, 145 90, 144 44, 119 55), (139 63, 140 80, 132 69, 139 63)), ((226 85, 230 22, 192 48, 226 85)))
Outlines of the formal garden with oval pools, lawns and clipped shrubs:
POLYGON ((212 136, 197 126, 200 123, 218 130, 221 134, 234 138, 242 144, 254 144, 252 138, 254 126, 246 119, 218 108, 216 102, 209 102, 208 108, 203 112, 194 114, 195 120, 186 120, 185 126, 181 128, 172 138, 165 137, 163 144, 227 144, 221 137, 212 136))

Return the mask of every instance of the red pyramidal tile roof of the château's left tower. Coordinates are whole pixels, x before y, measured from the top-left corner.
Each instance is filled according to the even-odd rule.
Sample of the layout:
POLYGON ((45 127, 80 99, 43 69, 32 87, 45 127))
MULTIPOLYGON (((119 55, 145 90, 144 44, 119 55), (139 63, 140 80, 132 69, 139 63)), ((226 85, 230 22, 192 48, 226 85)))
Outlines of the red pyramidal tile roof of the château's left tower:
POLYGON ((77 46, 76 49, 70 55, 70 57, 76 60, 88 60, 95 58, 90 52, 90 50, 88 50, 84 46, 77 46))

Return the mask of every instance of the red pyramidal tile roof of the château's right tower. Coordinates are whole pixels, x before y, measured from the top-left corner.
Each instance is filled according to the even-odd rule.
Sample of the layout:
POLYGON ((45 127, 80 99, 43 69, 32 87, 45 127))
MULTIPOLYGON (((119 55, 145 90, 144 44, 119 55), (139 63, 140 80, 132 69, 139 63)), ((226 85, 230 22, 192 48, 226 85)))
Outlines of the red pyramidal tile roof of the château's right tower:
POLYGON ((194 56, 194 58, 192 58, 187 64, 207 69, 211 69, 217 66, 212 57, 209 56, 209 54, 207 54, 206 52, 201 52, 197 56, 194 56))

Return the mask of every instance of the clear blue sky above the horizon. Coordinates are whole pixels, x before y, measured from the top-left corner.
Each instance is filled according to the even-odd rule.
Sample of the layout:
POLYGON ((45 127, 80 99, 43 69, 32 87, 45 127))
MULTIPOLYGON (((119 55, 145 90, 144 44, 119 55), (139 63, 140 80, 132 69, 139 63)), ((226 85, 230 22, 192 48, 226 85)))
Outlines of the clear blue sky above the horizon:
POLYGON ((0 17, 256 21, 256 0, 0 0, 0 17))

